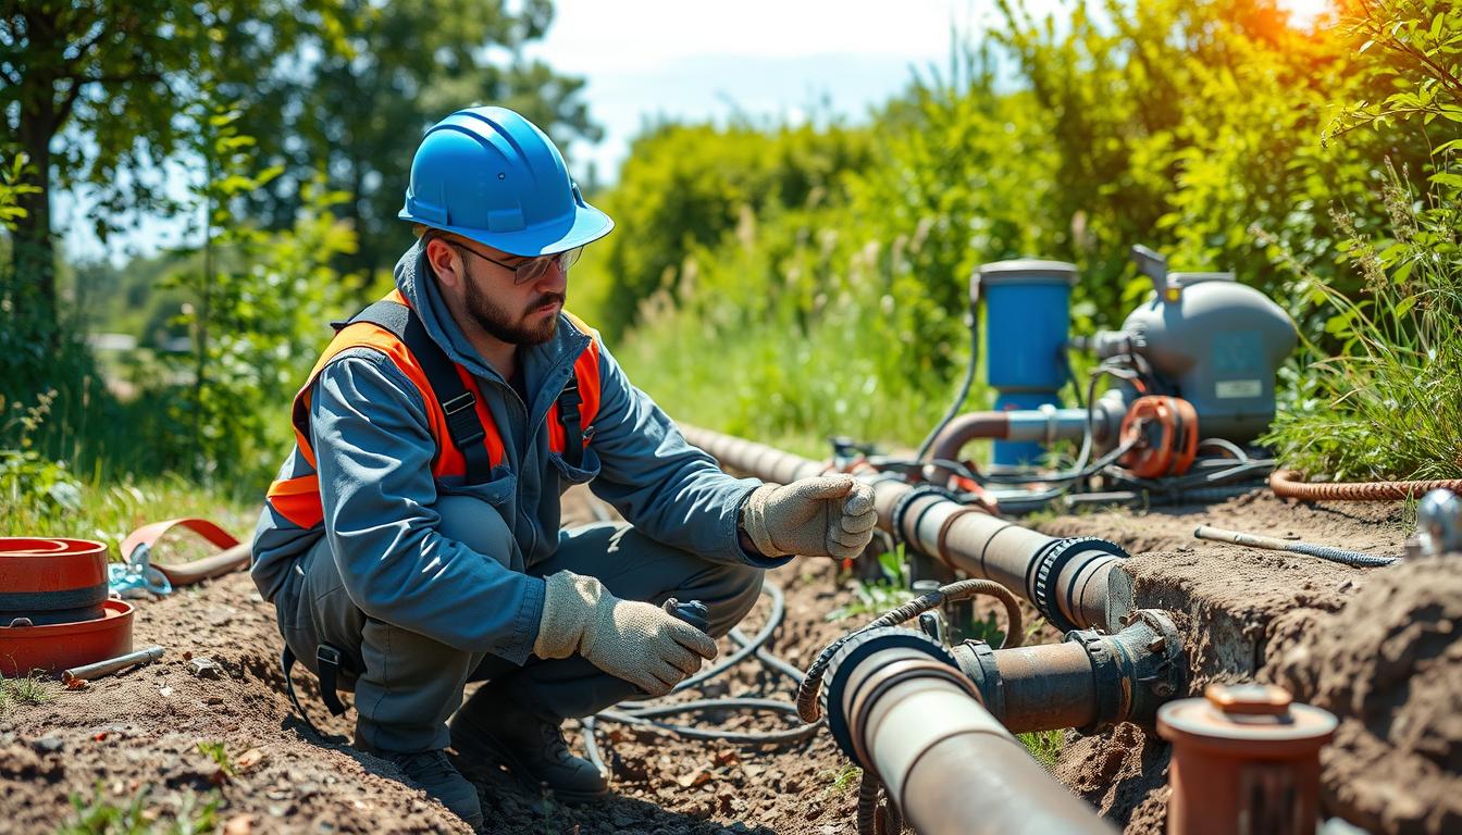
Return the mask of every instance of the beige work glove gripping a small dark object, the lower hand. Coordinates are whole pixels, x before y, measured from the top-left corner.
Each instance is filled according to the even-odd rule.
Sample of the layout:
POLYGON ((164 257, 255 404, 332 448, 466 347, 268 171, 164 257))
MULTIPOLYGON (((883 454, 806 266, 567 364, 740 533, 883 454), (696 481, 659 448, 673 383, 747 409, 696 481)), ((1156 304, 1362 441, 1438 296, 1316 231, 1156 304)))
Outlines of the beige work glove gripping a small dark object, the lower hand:
POLYGON ((658 605, 620 600, 595 578, 558 572, 544 579, 544 611, 534 654, 577 652, 610 676, 664 696, 716 657, 716 642, 658 605))

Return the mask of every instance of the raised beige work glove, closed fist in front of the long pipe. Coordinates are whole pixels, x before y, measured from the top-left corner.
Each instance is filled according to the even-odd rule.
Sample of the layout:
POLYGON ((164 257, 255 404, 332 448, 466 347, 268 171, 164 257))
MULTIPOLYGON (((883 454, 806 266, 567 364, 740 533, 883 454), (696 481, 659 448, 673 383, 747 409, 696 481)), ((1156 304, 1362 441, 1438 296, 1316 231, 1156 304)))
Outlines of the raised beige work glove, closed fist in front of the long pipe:
POLYGON ((873 488, 851 475, 763 484, 741 510, 741 529, 766 557, 857 557, 877 521, 873 488))

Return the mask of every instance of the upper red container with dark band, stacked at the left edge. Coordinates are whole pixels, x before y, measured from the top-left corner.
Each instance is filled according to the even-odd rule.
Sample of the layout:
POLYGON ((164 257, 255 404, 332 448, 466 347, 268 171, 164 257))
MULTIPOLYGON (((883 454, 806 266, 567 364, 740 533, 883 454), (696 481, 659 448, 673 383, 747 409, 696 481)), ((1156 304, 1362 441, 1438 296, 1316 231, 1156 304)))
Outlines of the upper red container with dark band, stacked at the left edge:
POLYGON ((107 545, 91 540, 0 537, 0 626, 102 617, 107 545))

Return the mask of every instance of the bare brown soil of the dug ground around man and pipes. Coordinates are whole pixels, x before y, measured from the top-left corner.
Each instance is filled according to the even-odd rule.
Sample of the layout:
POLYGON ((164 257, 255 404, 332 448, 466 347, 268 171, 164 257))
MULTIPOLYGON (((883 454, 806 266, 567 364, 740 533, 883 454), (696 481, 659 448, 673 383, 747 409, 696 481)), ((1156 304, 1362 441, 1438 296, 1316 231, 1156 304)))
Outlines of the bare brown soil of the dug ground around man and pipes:
MULTIPOLYGON (((570 521, 589 518, 585 503, 570 521)), ((1345 719, 1325 759, 1327 813, 1344 813, 1380 832, 1456 831, 1455 804, 1462 798, 1462 645, 1452 626, 1462 617, 1458 570, 1360 572, 1199 543, 1192 531, 1200 522, 1392 556, 1405 538, 1395 506, 1306 506, 1262 493, 1212 507, 1072 515, 1038 526, 1053 535, 1102 535, 1126 545, 1137 554, 1133 564, 1146 566, 1139 572, 1143 601, 1162 595, 1197 601, 1199 608, 1180 614, 1197 648, 1199 683, 1222 677, 1225 664, 1241 661, 1250 674, 1354 717, 1345 719), (1243 583, 1231 582, 1235 573, 1246 578, 1243 583), (1382 582, 1383 576, 1395 579, 1382 582), (1216 648, 1200 646, 1205 621, 1222 619, 1240 633, 1254 633, 1250 658, 1225 658, 1216 648), (1377 784, 1379 769, 1387 779, 1377 784), (1398 796, 1399 804, 1392 800, 1398 796), (1408 806, 1408 797, 1417 801, 1408 806)), ((854 600, 851 582, 830 563, 797 562, 769 579, 787 592, 787 617, 772 651, 795 667, 806 667, 829 641, 870 617, 827 621, 829 611, 854 600)), ((754 632, 766 611, 763 600, 744 629, 754 632)), ((1037 639, 1056 636, 1047 629, 1037 639)), ((143 815, 158 825, 175 819, 189 803, 216 800, 218 825, 234 835, 466 832, 461 820, 402 782, 392 765, 345 744, 351 715, 329 719, 308 673, 297 673, 297 684, 303 684, 311 718, 329 719, 323 724, 335 734, 332 741, 322 744, 294 718, 278 673, 272 608, 246 575, 139 604, 135 643, 161 643, 167 655, 83 690, 48 684, 39 703, 10 700, 0 708, 0 834, 51 832, 75 822, 73 796, 120 807, 140 796, 143 815), (193 674, 189 655, 211 660, 216 677, 193 674), (222 743, 234 774, 224 774, 200 743, 222 743)), ((731 648, 722 642, 724 652, 731 648)), ((706 695, 792 700, 794 689, 753 661, 715 680, 706 695)), ((719 721, 734 730, 787 725, 779 717, 749 714, 719 721)), ((577 733, 573 744, 582 752, 577 733)), ((481 787, 491 832, 855 831, 857 778, 827 734, 757 749, 601 724, 598 744, 611 763, 616 794, 596 806, 566 806, 528 793, 496 766, 458 765, 481 787)), ((1069 734, 1056 772, 1129 832, 1162 831, 1167 746, 1140 728, 1069 734)))

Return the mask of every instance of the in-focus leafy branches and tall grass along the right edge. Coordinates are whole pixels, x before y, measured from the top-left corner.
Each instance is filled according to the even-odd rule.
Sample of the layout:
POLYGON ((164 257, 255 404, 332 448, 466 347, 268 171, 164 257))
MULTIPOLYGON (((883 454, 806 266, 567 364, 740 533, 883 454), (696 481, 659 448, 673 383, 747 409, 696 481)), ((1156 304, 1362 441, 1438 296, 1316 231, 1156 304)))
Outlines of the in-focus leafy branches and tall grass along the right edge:
POLYGON ((1409 137, 1427 158, 1389 164, 1379 194, 1335 211, 1347 295, 1295 265, 1301 298, 1327 314, 1287 369, 1288 402, 1269 436, 1285 464, 1338 478, 1462 477, 1462 10, 1431 0, 1367 6, 1349 29, 1366 83, 1330 129, 1332 145, 1409 137), (1414 183, 1421 180, 1423 186, 1414 183))

